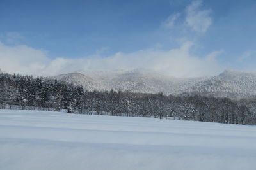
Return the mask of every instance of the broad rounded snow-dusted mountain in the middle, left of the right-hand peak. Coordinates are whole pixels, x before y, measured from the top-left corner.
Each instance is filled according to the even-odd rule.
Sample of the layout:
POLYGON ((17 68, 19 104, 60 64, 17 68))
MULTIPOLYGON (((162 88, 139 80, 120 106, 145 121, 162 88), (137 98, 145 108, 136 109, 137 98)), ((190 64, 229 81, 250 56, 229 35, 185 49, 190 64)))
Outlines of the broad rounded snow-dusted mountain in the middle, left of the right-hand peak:
POLYGON ((86 90, 113 89, 142 93, 163 92, 164 94, 179 93, 180 83, 183 84, 182 87, 186 87, 191 82, 197 82, 197 79, 173 78, 148 69, 79 71, 79 73, 61 74, 53 78, 83 85, 86 90))

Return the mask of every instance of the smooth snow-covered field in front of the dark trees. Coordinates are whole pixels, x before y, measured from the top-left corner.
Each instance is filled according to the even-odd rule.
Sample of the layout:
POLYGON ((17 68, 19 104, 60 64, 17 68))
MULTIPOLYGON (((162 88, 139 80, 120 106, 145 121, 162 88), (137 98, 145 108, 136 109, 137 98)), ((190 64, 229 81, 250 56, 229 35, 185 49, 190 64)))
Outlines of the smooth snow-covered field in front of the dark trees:
POLYGON ((0 169, 256 169, 256 126, 0 110, 0 169))

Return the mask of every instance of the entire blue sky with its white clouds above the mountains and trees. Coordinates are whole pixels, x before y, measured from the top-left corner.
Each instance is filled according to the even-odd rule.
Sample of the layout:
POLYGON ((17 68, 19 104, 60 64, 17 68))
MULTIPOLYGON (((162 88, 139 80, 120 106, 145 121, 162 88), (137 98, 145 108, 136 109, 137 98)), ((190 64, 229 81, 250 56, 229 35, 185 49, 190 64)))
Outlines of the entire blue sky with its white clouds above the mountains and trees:
POLYGON ((255 30, 255 0, 0 0, 0 68, 34 76, 254 72, 255 30))

